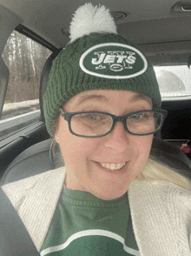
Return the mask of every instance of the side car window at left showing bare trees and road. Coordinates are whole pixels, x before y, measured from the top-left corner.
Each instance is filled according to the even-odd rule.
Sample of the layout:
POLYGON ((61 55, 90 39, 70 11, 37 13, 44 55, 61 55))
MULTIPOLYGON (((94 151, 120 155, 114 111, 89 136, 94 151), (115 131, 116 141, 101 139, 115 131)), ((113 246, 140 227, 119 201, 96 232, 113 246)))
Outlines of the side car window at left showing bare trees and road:
POLYGON ((16 30, 10 35, 3 50, 10 79, 0 121, 0 136, 39 119, 40 79, 51 53, 16 30))

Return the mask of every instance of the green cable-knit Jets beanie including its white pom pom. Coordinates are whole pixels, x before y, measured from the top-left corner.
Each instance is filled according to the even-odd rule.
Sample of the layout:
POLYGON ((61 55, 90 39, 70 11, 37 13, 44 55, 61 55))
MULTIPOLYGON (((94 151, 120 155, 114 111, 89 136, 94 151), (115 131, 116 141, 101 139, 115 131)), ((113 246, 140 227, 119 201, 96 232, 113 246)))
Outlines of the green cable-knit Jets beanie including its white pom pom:
POLYGON ((43 97, 46 127, 51 136, 59 108, 81 91, 136 91, 151 98, 155 108, 161 107, 152 64, 137 45, 116 34, 109 10, 86 3, 76 10, 70 34, 70 43, 52 64, 43 97))

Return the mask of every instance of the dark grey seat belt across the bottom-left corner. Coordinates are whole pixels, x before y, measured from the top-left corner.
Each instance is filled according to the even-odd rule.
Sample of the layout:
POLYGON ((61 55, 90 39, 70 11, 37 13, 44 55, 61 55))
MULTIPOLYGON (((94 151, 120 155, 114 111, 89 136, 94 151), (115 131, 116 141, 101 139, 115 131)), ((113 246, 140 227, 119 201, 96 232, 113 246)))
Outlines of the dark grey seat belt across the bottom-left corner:
POLYGON ((10 199, 0 187, 0 256, 40 256, 10 199))

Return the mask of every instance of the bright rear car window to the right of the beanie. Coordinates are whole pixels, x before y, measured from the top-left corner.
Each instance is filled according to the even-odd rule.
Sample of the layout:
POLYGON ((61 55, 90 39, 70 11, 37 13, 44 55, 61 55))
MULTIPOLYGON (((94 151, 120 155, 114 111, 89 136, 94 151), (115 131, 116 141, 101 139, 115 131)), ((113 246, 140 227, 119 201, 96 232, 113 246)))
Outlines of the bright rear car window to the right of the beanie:
POLYGON ((191 70, 187 65, 155 66, 155 73, 162 101, 191 98, 191 70))

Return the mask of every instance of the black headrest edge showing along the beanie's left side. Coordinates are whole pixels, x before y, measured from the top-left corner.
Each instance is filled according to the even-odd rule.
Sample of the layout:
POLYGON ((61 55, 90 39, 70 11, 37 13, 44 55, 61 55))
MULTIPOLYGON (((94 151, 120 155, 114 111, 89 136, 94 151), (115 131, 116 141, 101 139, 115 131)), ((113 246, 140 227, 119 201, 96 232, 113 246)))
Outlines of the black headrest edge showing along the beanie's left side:
POLYGON ((39 101, 40 101, 40 110, 41 110, 41 120, 44 122, 44 115, 43 115, 43 95, 46 91, 49 81, 49 71, 52 66, 53 60, 58 56, 58 54, 62 51, 62 49, 54 51, 47 59, 46 63, 43 66, 43 72, 41 75, 41 82, 40 82, 40 91, 39 91, 39 101))

